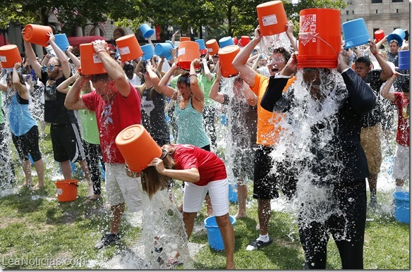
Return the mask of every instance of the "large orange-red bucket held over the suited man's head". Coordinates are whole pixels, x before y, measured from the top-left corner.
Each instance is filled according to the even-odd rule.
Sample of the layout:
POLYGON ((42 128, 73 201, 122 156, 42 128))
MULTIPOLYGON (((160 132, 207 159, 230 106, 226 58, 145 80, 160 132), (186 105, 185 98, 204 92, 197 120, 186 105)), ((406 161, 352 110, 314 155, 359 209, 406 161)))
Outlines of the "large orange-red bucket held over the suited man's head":
POLYGON ((337 68, 341 51, 341 13, 308 8, 299 19, 298 68, 337 68))

